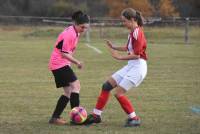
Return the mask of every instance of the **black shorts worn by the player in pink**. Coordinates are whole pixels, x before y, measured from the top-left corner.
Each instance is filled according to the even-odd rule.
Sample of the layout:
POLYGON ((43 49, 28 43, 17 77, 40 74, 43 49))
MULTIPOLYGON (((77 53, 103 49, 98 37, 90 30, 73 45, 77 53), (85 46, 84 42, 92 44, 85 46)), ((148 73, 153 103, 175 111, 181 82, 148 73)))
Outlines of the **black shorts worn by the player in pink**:
POLYGON ((56 70, 52 70, 52 73, 54 75, 57 88, 69 86, 71 82, 77 80, 75 73, 68 65, 56 70))

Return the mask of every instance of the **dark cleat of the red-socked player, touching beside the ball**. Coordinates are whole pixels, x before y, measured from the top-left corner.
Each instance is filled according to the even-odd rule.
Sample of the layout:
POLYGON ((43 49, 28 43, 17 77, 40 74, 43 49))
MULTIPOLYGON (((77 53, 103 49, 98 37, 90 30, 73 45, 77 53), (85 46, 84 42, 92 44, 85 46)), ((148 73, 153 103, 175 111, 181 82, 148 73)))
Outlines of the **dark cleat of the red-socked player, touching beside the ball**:
POLYGON ((101 116, 95 114, 89 114, 84 124, 90 125, 93 123, 101 123, 101 116))

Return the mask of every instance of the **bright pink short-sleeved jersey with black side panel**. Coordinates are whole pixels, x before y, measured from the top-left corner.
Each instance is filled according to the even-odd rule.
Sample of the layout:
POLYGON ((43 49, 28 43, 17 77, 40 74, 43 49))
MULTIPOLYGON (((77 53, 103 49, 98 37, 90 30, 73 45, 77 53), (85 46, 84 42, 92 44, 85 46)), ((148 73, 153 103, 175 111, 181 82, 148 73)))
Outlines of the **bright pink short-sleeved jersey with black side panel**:
POLYGON ((73 54, 79 40, 79 34, 74 26, 67 27, 57 38, 53 52, 49 60, 49 69, 56 70, 71 62, 63 58, 61 53, 73 54))

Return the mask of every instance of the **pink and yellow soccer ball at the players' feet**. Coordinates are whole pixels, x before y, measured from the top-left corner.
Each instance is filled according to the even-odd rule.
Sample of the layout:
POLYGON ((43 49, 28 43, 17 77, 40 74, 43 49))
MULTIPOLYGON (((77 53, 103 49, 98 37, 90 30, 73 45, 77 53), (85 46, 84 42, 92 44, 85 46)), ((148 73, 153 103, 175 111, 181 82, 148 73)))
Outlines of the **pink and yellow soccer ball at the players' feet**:
POLYGON ((74 107, 70 111, 70 119, 76 124, 82 124, 87 119, 87 111, 83 107, 74 107))

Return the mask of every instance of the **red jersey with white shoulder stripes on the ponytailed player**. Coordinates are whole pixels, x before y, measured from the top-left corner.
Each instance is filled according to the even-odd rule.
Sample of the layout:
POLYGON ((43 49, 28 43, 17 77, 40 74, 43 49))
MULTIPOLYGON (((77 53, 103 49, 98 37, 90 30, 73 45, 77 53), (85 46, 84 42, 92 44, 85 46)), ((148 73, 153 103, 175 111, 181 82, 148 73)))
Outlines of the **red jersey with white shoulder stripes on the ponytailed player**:
POLYGON ((140 55, 140 58, 147 60, 146 54, 147 42, 144 36, 144 32, 141 27, 136 27, 130 34, 127 43, 127 49, 129 54, 134 53, 140 55))

